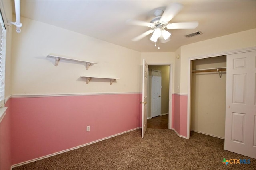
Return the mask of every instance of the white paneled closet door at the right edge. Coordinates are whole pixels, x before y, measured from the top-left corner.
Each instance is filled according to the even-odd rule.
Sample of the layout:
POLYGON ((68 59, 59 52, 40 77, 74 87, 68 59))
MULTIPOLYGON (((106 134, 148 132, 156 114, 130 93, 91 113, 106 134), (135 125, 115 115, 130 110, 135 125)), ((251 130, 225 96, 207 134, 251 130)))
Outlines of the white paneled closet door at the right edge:
POLYGON ((224 149, 256 158, 255 51, 227 55, 224 149))

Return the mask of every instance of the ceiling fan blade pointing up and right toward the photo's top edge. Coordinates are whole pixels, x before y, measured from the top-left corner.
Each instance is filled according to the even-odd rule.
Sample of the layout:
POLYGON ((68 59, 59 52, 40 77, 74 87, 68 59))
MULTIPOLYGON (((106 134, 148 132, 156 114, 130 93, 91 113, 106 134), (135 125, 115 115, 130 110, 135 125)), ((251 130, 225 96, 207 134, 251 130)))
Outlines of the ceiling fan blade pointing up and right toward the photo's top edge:
POLYGON ((162 15, 160 20, 165 21, 165 22, 169 22, 170 20, 172 20, 172 18, 174 16, 176 16, 176 14, 178 14, 178 12, 180 12, 180 10, 182 8, 183 8, 182 4, 179 4, 179 3, 170 4, 170 6, 168 6, 164 10, 164 14, 162 15))

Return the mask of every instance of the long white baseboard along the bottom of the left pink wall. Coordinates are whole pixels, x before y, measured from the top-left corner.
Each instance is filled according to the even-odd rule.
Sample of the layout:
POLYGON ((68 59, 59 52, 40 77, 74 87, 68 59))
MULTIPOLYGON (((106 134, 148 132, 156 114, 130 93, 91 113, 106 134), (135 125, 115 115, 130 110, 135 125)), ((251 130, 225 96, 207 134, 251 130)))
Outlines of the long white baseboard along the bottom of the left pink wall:
POLYGON ((53 153, 53 154, 49 154, 49 155, 46 155, 46 156, 42 156, 42 157, 40 157, 40 158, 28 160, 28 161, 21 162, 21 163, 18 163, 18 164, 14 164, 14 165, 11 166, 11 170, 12 170, 12 168, 15 168, 15 167, 17 167, 17 166, 22 166, 22 165, 24 165, 24 164, 29 164, 29 163, 35 162, 35 161, 37 161, 37 160, 41 160, 41 159, 44 159, 44 158, 49 158, 49 157, 51 157, 51 156, 55 156, 55 155, 58 155, 58 154, 62 154, 62 153, 68 152, 68 151, 70 151, 70 150, 78 149, 78 148, 80 148, 80 147, 84 147, 84 146, 86 146, 86 145, 90 145, 90 144, 93 144, 93 143, 96 143, 96 142, 100 142, 100 141, 103 141, 103 140, 105 140, 105 139, 109 139, 109 138, 112 138, 112 137, 115 137, 115 136, 118 136, 118 135, 122 135, 122 134, 124 134, 124 133, 130 132, 130 131, 134 131, 134 130, 140 129, 140 128, 141 128, 141 127, 137 127, 137 128, 134 128, 134 129, 130 129, 130 130, 128 130, 128 131, 124 131, 124 132, 121 132, 121 133, 118 133, 118 134, 115 134, 115 135, 111 135, 111 136, 109 136, 109 137, 105 137, 105 138, 102 138, 102 139, 99 139, 99 140, 96 140, 96 141, 92 141, 92 142, 89 142, 89 143, 86 143, 86 144, 83 144, 83 145, 79 145, 79 146, 77 146, 77 147, 73 147, 73 148, 70 148, 70 149, 62 150, 62 151, 60 151, 60 152, 56 152, 56 153, 53 153))

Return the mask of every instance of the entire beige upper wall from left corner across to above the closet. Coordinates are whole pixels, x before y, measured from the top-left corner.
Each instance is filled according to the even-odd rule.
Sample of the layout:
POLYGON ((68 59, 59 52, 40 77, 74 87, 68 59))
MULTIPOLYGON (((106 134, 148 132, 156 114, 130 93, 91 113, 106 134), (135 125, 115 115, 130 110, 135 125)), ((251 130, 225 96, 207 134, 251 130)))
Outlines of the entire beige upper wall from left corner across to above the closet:
POLYGON ((12 28, 12 70, 7 68, 6 73, 12 72, 6 80, 7 86, 12 86, 8 86, 6 94, 142 92, 143 59, 156 65, 172 63, 172 92, 187 94, 190 57, 256 46, 256 29, 252 29, 184 45, 176 52, 140 53, 27 18, 21 21, 22 33, 17 34, 12 28), (46 58, 49 53, 98 64, 85 70, 80 63, 60 61, 55 67, 54 60, 46 58), (176 59, 177 55, 180 59, 176 59), (111 86, 108 80, 101 79, 86 84, 82 75, 120 80, 111 86))

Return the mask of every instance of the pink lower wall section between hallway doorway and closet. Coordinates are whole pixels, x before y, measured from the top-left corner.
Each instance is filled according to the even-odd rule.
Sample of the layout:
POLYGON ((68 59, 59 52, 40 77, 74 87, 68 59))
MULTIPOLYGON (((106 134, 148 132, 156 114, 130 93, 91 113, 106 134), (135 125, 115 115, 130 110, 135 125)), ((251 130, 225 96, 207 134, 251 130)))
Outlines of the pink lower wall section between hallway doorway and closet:
POLYGON ((172 94, 172 128, 182 136, 187 136, 188 96, 172 94))

